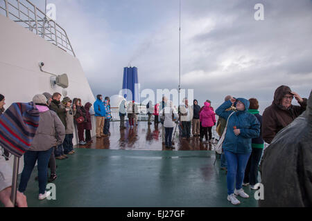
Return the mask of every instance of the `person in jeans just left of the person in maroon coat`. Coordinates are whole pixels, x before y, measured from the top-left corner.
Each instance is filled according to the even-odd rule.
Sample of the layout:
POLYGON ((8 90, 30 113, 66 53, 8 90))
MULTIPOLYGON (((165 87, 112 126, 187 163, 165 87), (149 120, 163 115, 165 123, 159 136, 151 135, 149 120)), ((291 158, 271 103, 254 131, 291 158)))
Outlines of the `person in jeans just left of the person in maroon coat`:
POLYGON ((73 130, 74 130, 74 124, 73 124, 73 117, 76 115, 76 106, 73 106, 71 108, 71 99, 69 97, 64 97, 62 100, 63 108, 67 109, 66 112, 66 126, 65 126, 65 139, 63 142, 64 147, 64 153, 65 154, 73 154, 75 151, 73 151, 73 130))

